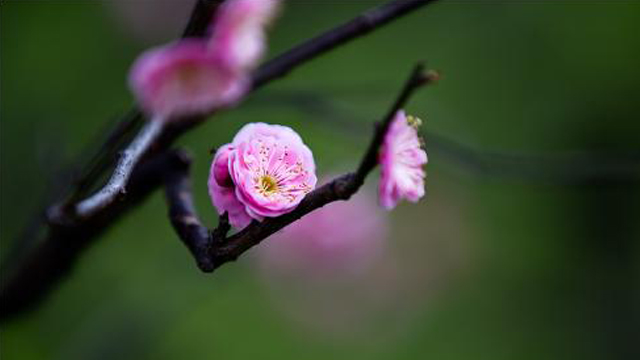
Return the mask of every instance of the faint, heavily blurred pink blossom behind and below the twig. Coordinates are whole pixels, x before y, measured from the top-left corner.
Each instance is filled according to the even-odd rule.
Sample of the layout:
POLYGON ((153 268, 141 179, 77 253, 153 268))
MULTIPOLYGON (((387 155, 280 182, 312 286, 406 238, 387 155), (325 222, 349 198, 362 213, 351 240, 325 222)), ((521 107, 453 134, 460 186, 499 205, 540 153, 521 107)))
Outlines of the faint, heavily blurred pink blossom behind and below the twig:
POLYGON ((361 191, 328 204, 287 226, 258 249, 261 268, 299 276, 344 279, 380 258, 387 218, 375 199, 361 191))

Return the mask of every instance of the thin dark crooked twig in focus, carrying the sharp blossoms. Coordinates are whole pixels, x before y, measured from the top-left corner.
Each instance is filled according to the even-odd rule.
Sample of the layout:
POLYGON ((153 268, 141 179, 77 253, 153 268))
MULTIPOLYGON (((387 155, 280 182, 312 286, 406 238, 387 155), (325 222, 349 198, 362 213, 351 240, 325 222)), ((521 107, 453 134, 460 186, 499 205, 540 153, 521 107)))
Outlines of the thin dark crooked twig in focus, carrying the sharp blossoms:
POLYGON ((226 237, 226 231, 228 231, 226 222, 223 223, 222 231, 218 229, 218 232, 214 231, 213 235, 200 223, 191 201, 187 175, 180 174, 179 180, 169 184, 167 201, 170 209, 180 210, 175 211, 177 216, 174 216, 174 210, 171 211, 172 224, 196 258, 200 269, 207 272, 213 271, 222 264, 237 259, 251 247, 304 215, 328 203, 349 199, 360 189, 366 176, 377 165, 380 146, 395 114, 405 105, 416 89, 436 79, 435 72, 425 72, 421 64, 416 66, 400 95, 376 128, 371 144, 364 153, 361 165, 356 172, 345 174, 315 189, 292 212, 276 218, 267 218, 262 222, 254 221, 242 231, 228 238, 226 237), (206 268, 203 268, 203 263, 206 264, 206 268))

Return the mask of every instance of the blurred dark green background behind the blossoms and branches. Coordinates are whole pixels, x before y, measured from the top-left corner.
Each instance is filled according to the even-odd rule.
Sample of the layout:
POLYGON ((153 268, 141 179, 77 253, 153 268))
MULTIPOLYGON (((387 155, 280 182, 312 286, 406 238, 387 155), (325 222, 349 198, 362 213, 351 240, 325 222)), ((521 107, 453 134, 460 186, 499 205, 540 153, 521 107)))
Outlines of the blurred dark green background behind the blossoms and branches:
MULTIPOLYGON (((3 263, 192 2, 0 5, 3 263)), ((270 56, 379 3, 289 1, 270 56)), ((375 264, 282 276, 254 249, 202 274, 158 192, 2 324, 0 358, 640 358, 639 45, 637 2, 443 1, 314 60, 181 139, 196 202, 215 224, 208 151, 246 122, 294 127, 320 174, 354 166, 425 59, 442 81, 407 110, 426 120, 428 194, 383 213, 375 264)))

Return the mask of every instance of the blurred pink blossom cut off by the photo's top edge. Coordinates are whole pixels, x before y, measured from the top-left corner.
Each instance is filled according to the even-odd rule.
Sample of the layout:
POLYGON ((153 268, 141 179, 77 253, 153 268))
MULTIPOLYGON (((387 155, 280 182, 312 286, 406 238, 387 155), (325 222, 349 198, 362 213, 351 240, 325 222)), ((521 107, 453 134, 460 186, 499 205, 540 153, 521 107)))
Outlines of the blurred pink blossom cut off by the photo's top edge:
POLYGON ((229 69, 250 70, 262 57, 265 28, 279 0, 231 0, 223 3, 212 26, 209 46, 229 69))

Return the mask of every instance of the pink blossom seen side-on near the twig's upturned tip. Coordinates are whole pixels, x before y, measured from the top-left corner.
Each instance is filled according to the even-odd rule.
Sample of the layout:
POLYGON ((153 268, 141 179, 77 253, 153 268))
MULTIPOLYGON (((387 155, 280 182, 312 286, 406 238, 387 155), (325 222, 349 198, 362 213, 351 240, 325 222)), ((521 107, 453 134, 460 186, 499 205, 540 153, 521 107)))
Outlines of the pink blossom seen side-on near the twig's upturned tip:
POLYGON ((393 209, 401 199, 417 202, 424 196, 423 166, 427 153, 418 137, 421 120, 396 113, 385 134, 378 162, 381 166, 379 198, 387 210, 393 209))

